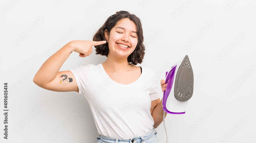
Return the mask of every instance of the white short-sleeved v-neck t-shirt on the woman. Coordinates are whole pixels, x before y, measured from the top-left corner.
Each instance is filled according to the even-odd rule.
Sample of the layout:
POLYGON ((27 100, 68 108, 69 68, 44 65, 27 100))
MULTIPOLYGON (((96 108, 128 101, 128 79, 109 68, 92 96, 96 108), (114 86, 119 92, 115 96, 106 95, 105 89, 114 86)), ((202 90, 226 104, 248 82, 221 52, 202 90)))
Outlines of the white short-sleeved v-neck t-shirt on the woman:
POLYGON ((100 135, 130 139, 151 131, 154 125, 151 101, 159 98, 152 69, 142 67, 141 76, 128 85, 113 81, 102 64, 88 64, 70 71, 79 89, 76 93, 88 100, 100 135))

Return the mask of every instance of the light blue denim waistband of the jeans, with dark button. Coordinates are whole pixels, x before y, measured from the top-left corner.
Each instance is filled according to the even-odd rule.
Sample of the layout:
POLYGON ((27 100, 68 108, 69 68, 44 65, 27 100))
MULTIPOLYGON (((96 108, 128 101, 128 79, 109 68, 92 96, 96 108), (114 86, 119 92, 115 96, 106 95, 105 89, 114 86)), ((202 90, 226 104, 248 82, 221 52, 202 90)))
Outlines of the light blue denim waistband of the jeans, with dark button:
POLYGON ((105 137, 105 136, 102 136, 102 135, 98 135, 97 139, 100 138, 102 141, 109 142, 109 143, 133 143, 135 141, 137 142, 137 140, 139 142, 143 142, 143 141, 151 138, 154 134, 156 135, 156 131, 155 131, 155 133, 154 133, 154 131, 155 131, 155 128, 153 127, 153 129, 149 133, 147 133, 143 136, 140 136, 140 137, 134 137, 134 138, 130 138, 130 139, 110 138, 110 137, 105 137))

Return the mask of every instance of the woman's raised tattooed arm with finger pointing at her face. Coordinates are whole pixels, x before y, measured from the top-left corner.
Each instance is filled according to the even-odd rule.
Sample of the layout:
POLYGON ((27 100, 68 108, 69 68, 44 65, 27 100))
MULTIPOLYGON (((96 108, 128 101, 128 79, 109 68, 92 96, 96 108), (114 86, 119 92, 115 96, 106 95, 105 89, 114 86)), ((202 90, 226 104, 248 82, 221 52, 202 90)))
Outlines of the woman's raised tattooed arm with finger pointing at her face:
POLYGON ((35 74, 33 82, 39 87, 52 91, 78 91, 79 89, 73 73, 71 71, 59 71, 61 66, 73 51, 80 53, 80 57, 87 57, 92 53, 92 46, 104 43, 106 42, 80 40, 67 43, 44 62, 35 74))

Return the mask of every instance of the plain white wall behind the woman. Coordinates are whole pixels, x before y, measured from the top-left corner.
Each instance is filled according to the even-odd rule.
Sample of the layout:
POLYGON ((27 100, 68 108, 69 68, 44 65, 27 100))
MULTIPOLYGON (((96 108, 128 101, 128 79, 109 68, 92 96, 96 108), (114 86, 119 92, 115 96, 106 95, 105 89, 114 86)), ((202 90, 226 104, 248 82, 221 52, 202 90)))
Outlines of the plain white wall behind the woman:
MULTIPOLYGON (((255 1, 56 2, 1 1, 1 142, 97 142, 98 132, 86 98, 75 92, 40 88, 33 77, 58 49, 72 40, 92 40, 105 20, 121 10, 130 11, 142 21, 146 55, 141 66, 155 71, 161 98, 160 80, 165 79, 168 64, 189 56, 194 71, 194 94, 185 114, 167 115, 169 142, 255 140, 255 1), (28 34, 24 34, 26 31, 28 34), (63 39, 63 35, 68 37, 63 39), (188 43, 191 46, 184 48, 188 43), (8 140, 3 138, 6 82, 8 140), (72 119, 73 113, 78 115, 72 119), (67 124, 68 119, 72 121, 67 124), (61 126, 64 129, 49 140, 61 126)), ((95 55, 94 50, 86 58, 72 53, 60 71, 105 60, 105 56, 95 55)), ((156 131, 159 141, 165 142, 163 123, 156 131)))

